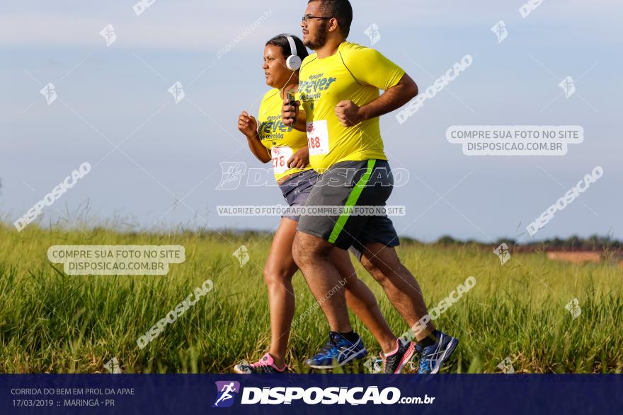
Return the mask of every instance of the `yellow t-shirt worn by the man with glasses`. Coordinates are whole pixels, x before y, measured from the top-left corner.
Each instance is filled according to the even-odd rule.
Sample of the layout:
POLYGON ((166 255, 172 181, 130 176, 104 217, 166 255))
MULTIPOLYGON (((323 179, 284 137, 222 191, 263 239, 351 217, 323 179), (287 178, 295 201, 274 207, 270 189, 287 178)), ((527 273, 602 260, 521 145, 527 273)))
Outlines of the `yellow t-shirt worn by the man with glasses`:
POLYGON ((380 52, 343 42, 331 57, 310 54, 303 60, 297 99, 307 116, 309 161, 319 173, 346 160, 387 160, 379 117, 343 127, 336 105, 350 100, 362 107, 379 98, 404 76, 404 71, 380 52))

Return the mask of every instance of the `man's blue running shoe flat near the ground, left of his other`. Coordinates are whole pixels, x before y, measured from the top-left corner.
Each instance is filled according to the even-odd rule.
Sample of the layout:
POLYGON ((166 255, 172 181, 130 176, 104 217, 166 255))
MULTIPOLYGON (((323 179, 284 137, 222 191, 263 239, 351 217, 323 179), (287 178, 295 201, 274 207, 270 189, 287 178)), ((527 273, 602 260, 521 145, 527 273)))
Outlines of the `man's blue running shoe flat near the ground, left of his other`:
POLYGON ((343 366, 355 358, 367 355, 361 337, 357 334, 357 340, 348 341, 339 333, 329 333, 328 341, 316 356, 307 359, 305 364, 314 369, 331 369, 343 366))

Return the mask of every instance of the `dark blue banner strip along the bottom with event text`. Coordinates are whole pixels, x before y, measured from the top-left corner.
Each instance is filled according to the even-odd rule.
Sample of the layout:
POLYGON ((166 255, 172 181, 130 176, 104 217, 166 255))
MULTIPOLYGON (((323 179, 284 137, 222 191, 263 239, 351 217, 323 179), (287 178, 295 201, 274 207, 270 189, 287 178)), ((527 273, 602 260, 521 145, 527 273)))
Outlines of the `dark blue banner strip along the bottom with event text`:
POLYGON ((0 375, 0 414, 623 414, 622 375, 0 375))

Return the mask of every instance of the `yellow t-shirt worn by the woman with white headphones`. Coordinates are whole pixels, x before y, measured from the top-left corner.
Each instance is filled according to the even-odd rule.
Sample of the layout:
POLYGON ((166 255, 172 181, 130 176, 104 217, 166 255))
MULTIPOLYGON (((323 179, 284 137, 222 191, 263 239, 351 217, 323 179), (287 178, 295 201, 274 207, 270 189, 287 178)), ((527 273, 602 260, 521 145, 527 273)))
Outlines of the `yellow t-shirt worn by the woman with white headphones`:
POLYGON ((258 134, 262 144, 270 150, 276 180, 311 169, 311 165, 304 169, 287 167, 287 160, 290 160, 292 154, 307 146, 307 135, 283 124, 282 106, 279 90, 273 88, 265 93, 258 113, 258 134))

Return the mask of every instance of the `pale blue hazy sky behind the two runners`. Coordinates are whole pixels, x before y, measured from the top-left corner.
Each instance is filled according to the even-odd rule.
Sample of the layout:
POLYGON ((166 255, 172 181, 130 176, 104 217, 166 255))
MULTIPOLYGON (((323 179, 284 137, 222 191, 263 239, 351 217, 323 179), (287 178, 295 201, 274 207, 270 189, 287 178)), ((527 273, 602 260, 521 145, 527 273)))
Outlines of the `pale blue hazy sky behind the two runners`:
MULTIPOLYGON (((535 238, 612 233, 623 238, 619 97, 622 6, 547 0, 357 1, 349 40, 374 45, 424 90, 465 54, 474 63, 404 124, 382 118, 389 161, 409 171, 389 204, 401 235, 450 234, 490 242, 525 226, 600 165, 604 176, 535 238), (491 27, 504 21, 498 44, 491 27), (559 82, 576 80, 564 96, 559 82), (562 95, 561 95, 562 94, 562 95), (565 156, 464 156, 445 139, 452 125, 581 125, 565 156)), ((236 129, 266 90, 263 45, 299 35, 305 2, 169 2, 137 16, 133 1, 86 4, 4 1, 0 16, 0 214, 25 214, 88 161, 93 170, 45 209, 43 223, 88 218, 122 229, 184 226, 272 230, 278 218, 224 218, 224 204, 282 204, 277 187, 217 191, 222 161, 263 165, 236 129), (262 18, 264 16, 264 18, 262 18), (268 17, 266 17, 268 16, 268 17), (262 19, 261 19, 262 18, 262 19), (261 19, 261 21, 258 21, 261 19), (253 23, 258 25, 253 28, 253 23), (106 47, 108 24, 117 40, 106 47), (230 52, 217 52, 252 28, 230 52), (168 88, 182 83, 176 104, 168 88), (40 89, 53 83, 47 105, 40 89), (122 144, 120 144, 122 143, 122 144), (118 149, 114 145, 120 144, 118 149), (113 151, 114 150, 114 151, 113 151)), ((530 241, 530 236, 522 240, 530 241)))

